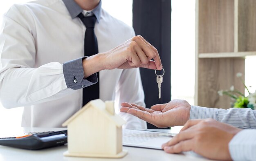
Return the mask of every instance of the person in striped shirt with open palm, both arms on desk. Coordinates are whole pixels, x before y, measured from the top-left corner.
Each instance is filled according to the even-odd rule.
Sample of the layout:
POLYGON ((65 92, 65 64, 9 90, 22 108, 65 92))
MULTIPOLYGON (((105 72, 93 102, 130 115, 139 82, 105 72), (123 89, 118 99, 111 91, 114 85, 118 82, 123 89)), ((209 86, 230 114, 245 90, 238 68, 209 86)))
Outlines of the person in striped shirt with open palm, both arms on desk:
POLYGON ((192 150, 209 159, 256 159, 256 110, 251 108, 206 108, 179 99, 150 109, 125 102, 121 106, 121 112, 159 128, 184 125, 178 135, 162 145, 168 153, 192 150))

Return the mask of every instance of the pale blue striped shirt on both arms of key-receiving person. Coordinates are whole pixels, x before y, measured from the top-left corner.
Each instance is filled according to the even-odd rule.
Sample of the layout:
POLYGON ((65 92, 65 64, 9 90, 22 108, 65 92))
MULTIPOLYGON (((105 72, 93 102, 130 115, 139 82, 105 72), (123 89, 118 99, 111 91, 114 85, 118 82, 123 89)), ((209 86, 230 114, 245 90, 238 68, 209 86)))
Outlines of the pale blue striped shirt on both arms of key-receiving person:
POLYGON ((251 128, 238 132, 231 139, 229 153, 234 161, 256 160, 256 110, 251 108, 229 108, 224 110, 191 106, 189 119, 207 118, 216 119, 238 128, 251 128))

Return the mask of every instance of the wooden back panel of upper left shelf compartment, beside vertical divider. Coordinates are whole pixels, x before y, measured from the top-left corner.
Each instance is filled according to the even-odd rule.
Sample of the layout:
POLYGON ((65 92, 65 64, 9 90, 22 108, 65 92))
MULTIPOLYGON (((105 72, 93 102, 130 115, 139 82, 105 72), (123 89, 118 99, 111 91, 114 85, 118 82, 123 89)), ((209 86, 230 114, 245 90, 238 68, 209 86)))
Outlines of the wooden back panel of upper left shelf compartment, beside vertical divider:
POLYGON ((234 0, 199 0, 198 52, 234 52, 234 0))

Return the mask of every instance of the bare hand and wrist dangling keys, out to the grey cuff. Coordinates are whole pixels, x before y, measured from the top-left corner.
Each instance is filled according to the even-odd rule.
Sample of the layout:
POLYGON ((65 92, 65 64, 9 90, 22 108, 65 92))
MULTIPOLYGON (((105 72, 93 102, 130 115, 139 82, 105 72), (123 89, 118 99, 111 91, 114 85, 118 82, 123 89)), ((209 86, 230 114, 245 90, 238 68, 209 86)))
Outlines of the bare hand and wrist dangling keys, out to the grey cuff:
POLYGON ((157 49, 140 35, 132 37, 110 51, 83 60, 85 78, 103 69, 137 67, 162 70, 157 49))

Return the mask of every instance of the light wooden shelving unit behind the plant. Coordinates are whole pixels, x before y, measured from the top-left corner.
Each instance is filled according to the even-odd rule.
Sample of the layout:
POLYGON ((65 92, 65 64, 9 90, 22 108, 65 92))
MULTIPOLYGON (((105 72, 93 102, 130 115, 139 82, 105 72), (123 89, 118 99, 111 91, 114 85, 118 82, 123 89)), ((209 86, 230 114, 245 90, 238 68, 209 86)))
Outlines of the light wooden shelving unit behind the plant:
POLYGON ((230 108, 218 90, 244 86, 245 57, 256 55, 256 0, 196 0, 195 104, 230 108))

